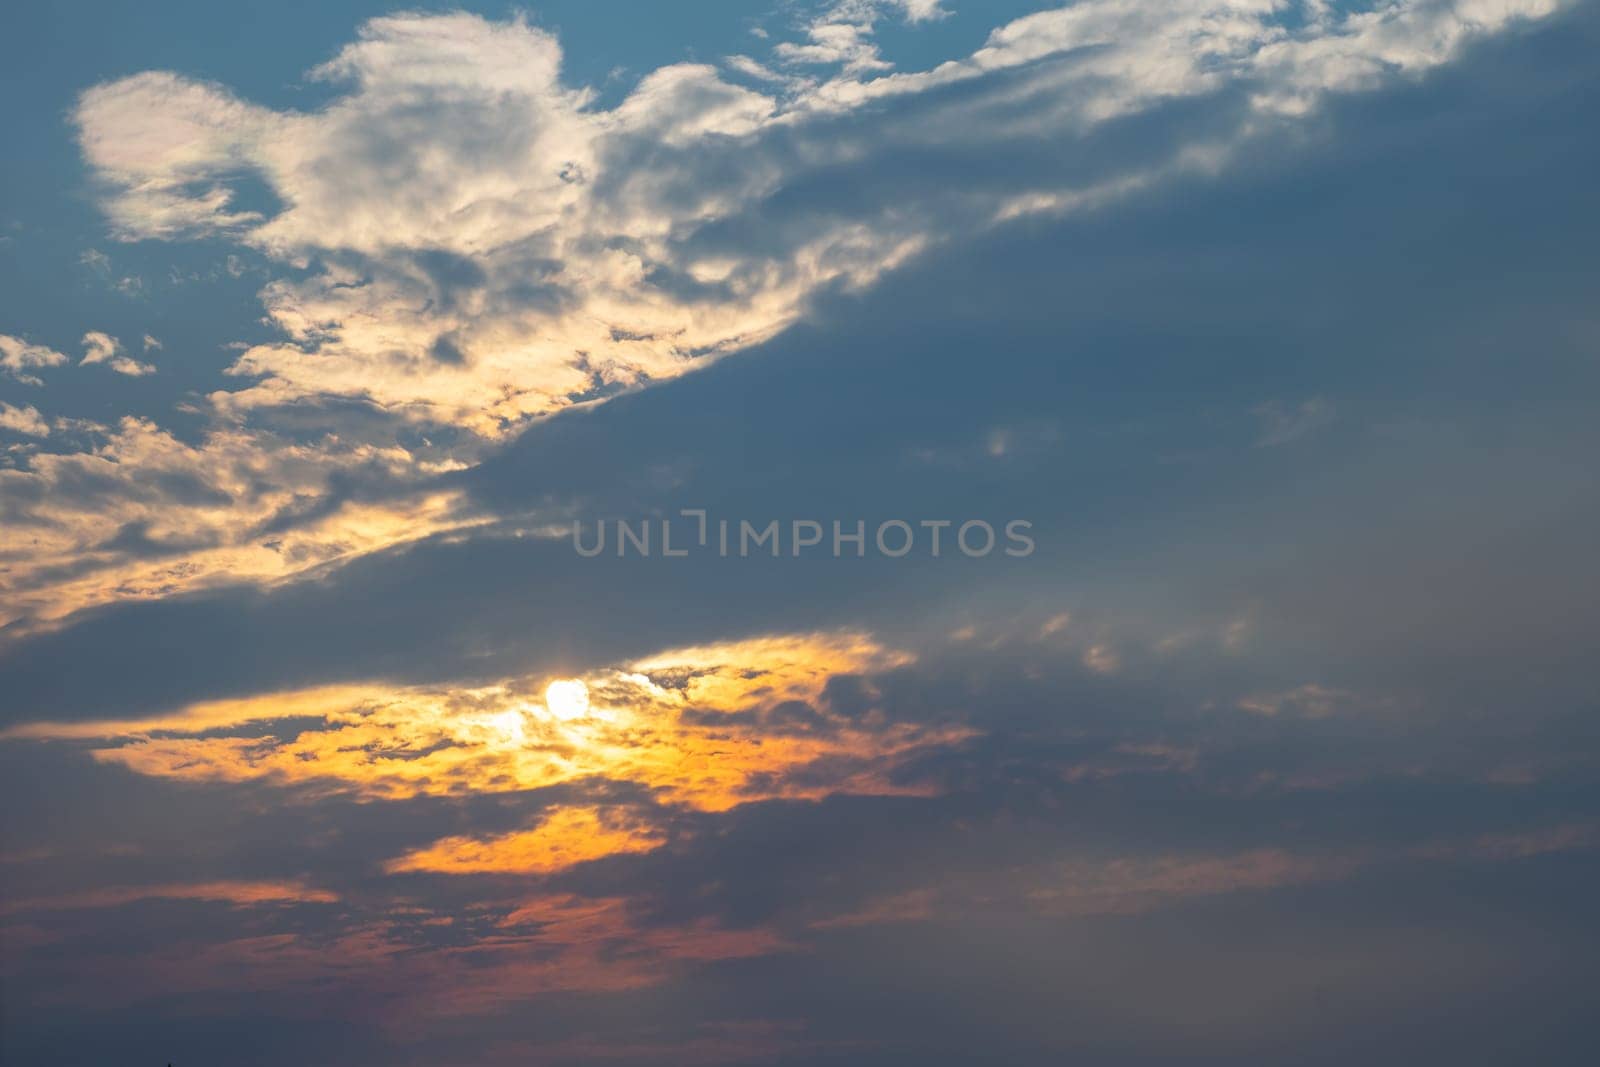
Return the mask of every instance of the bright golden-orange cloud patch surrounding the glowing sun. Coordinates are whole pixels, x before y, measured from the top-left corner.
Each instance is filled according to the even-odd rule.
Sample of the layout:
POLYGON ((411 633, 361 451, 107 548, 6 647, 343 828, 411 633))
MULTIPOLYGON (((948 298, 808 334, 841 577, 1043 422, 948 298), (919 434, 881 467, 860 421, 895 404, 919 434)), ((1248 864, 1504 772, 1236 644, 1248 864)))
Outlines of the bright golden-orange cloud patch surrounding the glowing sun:
POLYGON ((861 633, 762 637, 662 653, 582 678, 587 709, 544 707, 547 678, 424 689, 346 686, 218 701, 142 721, 32 723, 14 737, 107 737, 104 763, 186 781, 269 781, 370 798, 515 792, 581 779, 645 785, 666 803, 725 811, 755 800, 920 795, 904 760, 971 736, 962 726, 834 715, 835 675, 909 662, 861 633), (798 709, 798 710, 797 710, 798 709), (315 717, 294 736, 218 734, 229 721, 315 717), (150 736, 195 734, 208 736, 150 736))

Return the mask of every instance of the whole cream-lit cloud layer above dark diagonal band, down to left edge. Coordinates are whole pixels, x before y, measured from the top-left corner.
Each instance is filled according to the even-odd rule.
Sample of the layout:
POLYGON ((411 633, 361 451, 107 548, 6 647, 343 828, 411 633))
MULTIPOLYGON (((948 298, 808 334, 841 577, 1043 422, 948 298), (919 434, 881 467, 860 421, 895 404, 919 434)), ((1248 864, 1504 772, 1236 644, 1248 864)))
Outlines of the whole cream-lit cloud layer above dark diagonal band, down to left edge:
MULTIPOLYGON (((546 30, 406 14, 368 22, 312 72, 338 90, 314 112, 170 72, 94 86, 74 120, 114 234, 219 235, 266 254, 278 277, 261 299, 282 339, 246 346, 227 368, 243 381, 210 394, 216 429, 187 461, 181 448, 134 446, 166 434, 150 422, 83 426, 99 442, 90 451, 61 438, 19 453, 6 510, 37 534, 13 550, 6 614, 30 627, 224 573, 272 581, 472 523, 422 490, 374 501, 381 518, 341 522, 330 483, 376 498, 474 464, 483 442, 530 416, 771 338, 830 286, 869 285, 1006 221, 1216 171, 1326 93, 1426 72, 1554 10, 1096 0, 997 27, 968 58, 893 72, 850 59, 829 29, 870 43, 893 5, 837 5, 802 51, 773 46, 773 62, 795 69, 776 86, 749 62, 675 64, 610 109, 562 80, 546 30), (362 440, 352 403, 376 418, 362 440), (408 426, 432 440, 402 440, 408 426), (202 453, 216 451, 251 469, 250 490, 205 469, 202 453), (296 456, 338 474, 307 482, 296 456), (163 491, 171 462, 226 507, 163 491), (67 470, 91 467, 96 480, 75 485, 102 488, 67 488, 67 470), (46 496, 48 510, 32 502, 46 496), (107 496, 146 504, 109 507, 107 496), (152 523, 165 534, 141 544, 165 545, 160 565, 106 550, 152 523), (286 555, 286 539, 302 547, 286 555)), ((83 363, 154 371, 106 333, 85 346, 83 363)), ((3 339, 3 366, 22 381, 64 360, 3 339)), ((1262 418, 1269 443, 1322 411, 1262 418)))

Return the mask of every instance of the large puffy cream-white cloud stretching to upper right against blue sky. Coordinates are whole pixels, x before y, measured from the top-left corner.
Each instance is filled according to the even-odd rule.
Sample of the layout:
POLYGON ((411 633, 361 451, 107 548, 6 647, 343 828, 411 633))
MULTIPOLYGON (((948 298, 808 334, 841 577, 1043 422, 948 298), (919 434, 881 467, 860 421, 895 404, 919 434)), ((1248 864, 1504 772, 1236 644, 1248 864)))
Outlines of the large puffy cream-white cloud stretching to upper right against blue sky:
POLYGON ((840 5, 808 43, 774 48, 842 66, 819 85, 774 98, 680 64, 611 110, 562 82, 555 38, 526 22, 390 16, 314 72, 346 86, 318 112, 149 72, 86 91, 75 122, 123 238, 226 234, 315 264, 262 291, 285 341, 246 350, 234 373, 251 384, 218 403, 362 397, 499 435, 770 338, 819 290, 930 243, 1219 166, 1272 115, 1435 67, 1555 5, 1397 3, 1302 26, 1280 8, 1093 0, 1002 26, 966 59, 874 77, 880 8, 840 5), (1083 162, 1112 120, 1229 91, 1250 106, 1083 162), (902 170, 974 154, 992 163, 938 184, 902 170), (240 173, 278 208, 235 210, 240 173), (813 203, 818 182, 850 192, 813 203))

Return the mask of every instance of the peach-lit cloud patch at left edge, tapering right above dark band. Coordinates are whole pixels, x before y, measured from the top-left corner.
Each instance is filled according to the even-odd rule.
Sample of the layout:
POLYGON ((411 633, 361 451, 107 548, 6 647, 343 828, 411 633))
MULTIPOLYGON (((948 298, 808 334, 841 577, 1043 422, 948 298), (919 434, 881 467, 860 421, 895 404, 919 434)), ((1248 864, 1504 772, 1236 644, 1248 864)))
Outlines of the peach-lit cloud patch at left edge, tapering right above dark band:
MULTIPOLYGON (((91 355, 123 358, 110 355, 115 342, 104 334, 86 344, 91 355)), ((414 477, 418 464, 400 448, 296 443, 237 427, 184 442, 138 418, 75 429, 56 435, 74 438, 59 451, 0 467, 0 522, 18 537, 0 569, 0 624, 43 625, 106 600, 269 582, 475 522, 459 510, 459 493, 437 488, 360 499, 363 483, 402 470, 414 477), (96 443, 74 451, 82 435, 96 443), (354 498, 330 499, 334 483, 354 498)))

